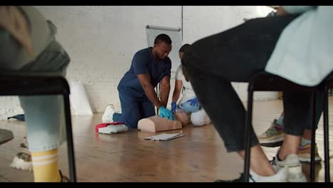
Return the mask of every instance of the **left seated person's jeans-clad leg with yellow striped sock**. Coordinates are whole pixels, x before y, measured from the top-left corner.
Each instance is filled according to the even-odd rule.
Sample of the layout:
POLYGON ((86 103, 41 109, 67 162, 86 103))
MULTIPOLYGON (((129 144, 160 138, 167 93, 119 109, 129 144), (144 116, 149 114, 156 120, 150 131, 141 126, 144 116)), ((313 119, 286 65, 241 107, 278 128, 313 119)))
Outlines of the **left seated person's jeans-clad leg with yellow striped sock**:
MULTIPOLYGON (((13 44, 6 46, 6 48, 10 48, 11 51, 8 56, 6 56, 6 61, 9 63, 5 63, 1 66, 16 71, 50 71, 60 74, 65 73, 69 58, 60 44, 55 41, 55 32, 51 32, 51 27, 53 29, 56 28, 52 23, 47 23, 44 17, 33 7, 26 7, 24 10, 29 10, 25 12, 25 16, 27 16, 25 18, 29 19, 30 32, 28 33, 31 36, 28 37, 31 38, 28 39, 31 39, 32 43, 35 45, 33 46, 35 56, 28 56, 28 53, 31 52, 29 48, 26 49, 24 43, 19 43, 20 40, 17 40, 17 38, 15 40, 15 34, 13 34, 11 37, 6 38, 6 40, 11 40, 7 41, 9 44, 13 44), (36 26, 34 23, 40 24, 36 26), (43 39, 46 40, 43 41, 43 39), (36 41, 39 42, 35 43, 36 41), (15 55, 11 56, 13 54, 15 55)), ((16 34, 19 35, 20 32, 16 34)), ((22 34, 20 36, 22 37, 24 35, 22 34)), ((2 48, 0 51, 3 52, 2 48)), ((31 55, 31 53, 29 53, 29 55, 31 55)), ((60 182, 61 177, 58 171, 57 148, 64 140, 63 137, 61 137, 61 133, 65 130, 65 127, 63 127, 63 100, 58 96, 21 97, 20 100, 23 110, 25 110, 26 113, 28 145, 29 150, 33 152, 33 174, 35 181, 60 182), (42 158, 45 158, 43 162, 41 162, 42 158)))

